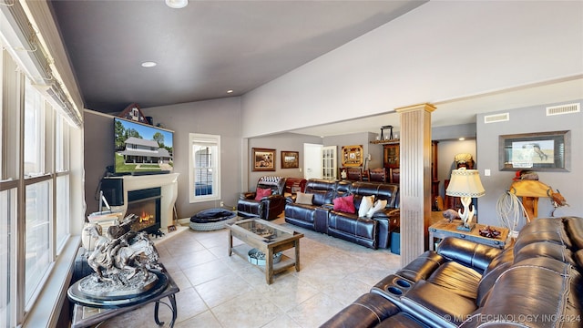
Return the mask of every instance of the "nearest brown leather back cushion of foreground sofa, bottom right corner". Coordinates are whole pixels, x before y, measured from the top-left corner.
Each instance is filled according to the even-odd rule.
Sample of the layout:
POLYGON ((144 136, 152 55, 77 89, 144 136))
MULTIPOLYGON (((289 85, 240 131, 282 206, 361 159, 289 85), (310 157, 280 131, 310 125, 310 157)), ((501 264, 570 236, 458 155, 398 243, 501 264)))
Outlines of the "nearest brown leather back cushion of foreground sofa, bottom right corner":
POLYGON ((572 265, 527 259, 498 277, 484 305, 460 327, 580 327, 581 294, 581 275, 572 265), (560 324, 553 323, 561 318, 560 324))

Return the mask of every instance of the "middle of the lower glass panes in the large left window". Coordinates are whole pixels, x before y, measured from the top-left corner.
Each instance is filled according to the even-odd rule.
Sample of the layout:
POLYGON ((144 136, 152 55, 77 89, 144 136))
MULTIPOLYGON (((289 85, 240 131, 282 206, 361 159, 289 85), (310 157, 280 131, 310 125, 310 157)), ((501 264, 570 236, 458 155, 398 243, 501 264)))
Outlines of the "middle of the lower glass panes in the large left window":
POLYGON ((50 263, 50 180, 26 186, 26 303, 36 294, 50 263))

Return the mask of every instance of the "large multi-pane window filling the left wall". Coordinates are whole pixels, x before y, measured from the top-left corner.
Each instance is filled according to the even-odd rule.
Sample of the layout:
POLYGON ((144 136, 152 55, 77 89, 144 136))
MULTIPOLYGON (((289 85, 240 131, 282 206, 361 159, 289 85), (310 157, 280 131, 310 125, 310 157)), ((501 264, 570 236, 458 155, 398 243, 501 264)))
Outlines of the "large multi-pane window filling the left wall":
POLYGON ((35 311, 71 245, 70 145, 80 130, 5 50, 0 59, 0 327, 14 327, 35 311))

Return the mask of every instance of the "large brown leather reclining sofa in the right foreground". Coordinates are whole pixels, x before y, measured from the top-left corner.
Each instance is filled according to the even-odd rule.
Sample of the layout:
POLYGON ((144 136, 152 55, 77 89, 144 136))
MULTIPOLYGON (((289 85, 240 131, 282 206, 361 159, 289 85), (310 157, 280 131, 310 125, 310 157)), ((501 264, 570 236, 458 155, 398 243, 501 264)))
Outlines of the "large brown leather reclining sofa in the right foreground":
POLYGON ((581 327, 583 218, 533 220, 505 250, 445 238, 322 327, 581 327))

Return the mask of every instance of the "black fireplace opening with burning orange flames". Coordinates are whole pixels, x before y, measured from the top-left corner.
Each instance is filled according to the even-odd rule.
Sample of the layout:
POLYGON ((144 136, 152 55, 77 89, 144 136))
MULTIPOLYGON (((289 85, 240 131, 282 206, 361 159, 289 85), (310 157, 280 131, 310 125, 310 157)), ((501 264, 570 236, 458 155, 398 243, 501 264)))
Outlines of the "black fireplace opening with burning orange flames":
POLYGON ((146 231, 148 234, 161 236, 160 231, 160 200, 162 198, 160 187, 143 190, 128 191, 129 214, 136 214, 138 219, 132 224, 133 231, 146 231))

